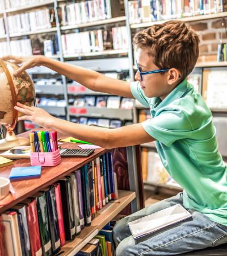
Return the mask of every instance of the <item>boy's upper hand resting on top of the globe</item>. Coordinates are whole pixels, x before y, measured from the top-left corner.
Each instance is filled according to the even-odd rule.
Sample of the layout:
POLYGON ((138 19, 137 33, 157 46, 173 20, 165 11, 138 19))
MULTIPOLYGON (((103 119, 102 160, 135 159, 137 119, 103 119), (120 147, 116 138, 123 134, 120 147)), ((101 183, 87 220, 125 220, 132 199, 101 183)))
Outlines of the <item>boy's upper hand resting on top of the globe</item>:
POLYGON ((22 64, 22 66, 14 72, 14 76, 18 76, 20 75, 20 73, 22 73, 28 68, 40 66, 42 63, 43 57, 44 56, 42 55, 26 56, 26 57, 7 55, 2 57, 2 59, 5 61, 10 60, 12 63, 15 63, 15 64, 22 64))

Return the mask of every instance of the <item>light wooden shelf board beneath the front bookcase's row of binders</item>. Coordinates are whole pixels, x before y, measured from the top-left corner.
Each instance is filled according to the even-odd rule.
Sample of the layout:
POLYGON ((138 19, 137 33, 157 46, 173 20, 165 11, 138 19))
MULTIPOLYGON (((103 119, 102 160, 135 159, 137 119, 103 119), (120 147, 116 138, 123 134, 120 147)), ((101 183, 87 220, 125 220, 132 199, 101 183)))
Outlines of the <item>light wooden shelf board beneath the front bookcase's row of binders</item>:
POLYGON ((111 201, 103 209, 96 213, 91 226, 85 227, 79 236, 75 237, 72 242, 66 242, 62 247, 61 256, 73 256, 91 240, 99 230, 103 228, 108 222, 112 220, 121 210, 123 210, 131 201, 136 197, 135 192, 131 191, 118 191, 119 199, 111 201))

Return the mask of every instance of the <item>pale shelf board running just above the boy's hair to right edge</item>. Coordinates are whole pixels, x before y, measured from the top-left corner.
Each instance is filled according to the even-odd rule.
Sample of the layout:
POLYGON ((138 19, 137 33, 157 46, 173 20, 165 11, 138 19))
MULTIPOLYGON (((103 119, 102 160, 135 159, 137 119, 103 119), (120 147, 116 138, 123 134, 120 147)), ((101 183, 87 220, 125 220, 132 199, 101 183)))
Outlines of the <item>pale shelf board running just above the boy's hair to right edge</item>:
MULTIPOLYGON (((198 15, 198 16, 189 16, 184 18, 176 18, 177 20, 182 20, 183 22, 194 22, 197 20, 205 20, 205 19, 215 19, 215 18, 222 18, 227 16, 227 11, 224 11, 222 13, 216 13, 216 14, 205 14, 205 15, 198 15)), ((155 20, 153 22, 144 22, 144 23, 138 23, 138 24, 131 24, 131 28, 142 28, 142 27, 150 27, 154 24, 161 24, 167 20, 155 20)))

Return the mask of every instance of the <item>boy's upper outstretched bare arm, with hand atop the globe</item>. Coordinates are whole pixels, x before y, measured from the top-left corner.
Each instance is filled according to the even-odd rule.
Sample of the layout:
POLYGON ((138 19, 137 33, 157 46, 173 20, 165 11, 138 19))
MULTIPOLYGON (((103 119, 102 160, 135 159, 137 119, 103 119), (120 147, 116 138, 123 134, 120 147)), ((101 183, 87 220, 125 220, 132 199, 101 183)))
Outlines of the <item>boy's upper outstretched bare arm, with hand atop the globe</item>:
POLYGON ((87 68, 63 63, 61 61, 49 59, 45 56, 18 57, 8 55, 2 57, 2 59, 12 60, 16 64, 22 64, 22 67, 18 69, 15 75, 19 75, 22 71, 28 68, 43 65, 52 69, 53 71, 56 71, 57 73, 60 73, 61 75, 68 77, 69 79, 79 82, 95 92, 104 92, 127 98, 134 98, 131 93, 129 82, 112 79, 87 68))

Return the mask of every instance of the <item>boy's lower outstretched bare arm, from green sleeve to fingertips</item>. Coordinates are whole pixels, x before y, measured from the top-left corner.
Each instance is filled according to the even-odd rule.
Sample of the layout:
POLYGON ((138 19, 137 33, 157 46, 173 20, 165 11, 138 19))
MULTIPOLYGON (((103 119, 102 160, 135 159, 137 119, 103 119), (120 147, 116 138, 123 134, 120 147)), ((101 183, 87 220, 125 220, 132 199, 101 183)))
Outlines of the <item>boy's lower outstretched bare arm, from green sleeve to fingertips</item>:
POLYGON ((43 109, 17 104, 15 109, 24 113, 19 120, 30 120, 41 127, 60 131, 66 135, 94 143, 104 148, 133 146, 136 144, 154 141, 141 123, 123 126, 116 129, 107 129, 96 126, 81 125, 53 117, 43 109))

